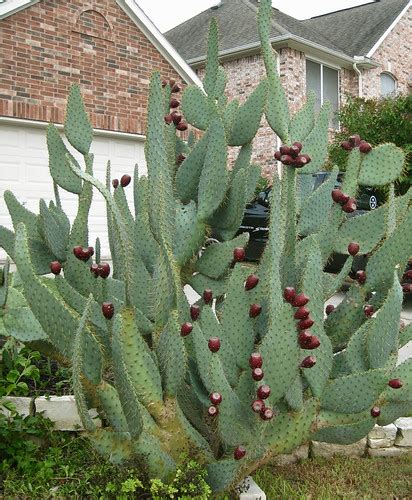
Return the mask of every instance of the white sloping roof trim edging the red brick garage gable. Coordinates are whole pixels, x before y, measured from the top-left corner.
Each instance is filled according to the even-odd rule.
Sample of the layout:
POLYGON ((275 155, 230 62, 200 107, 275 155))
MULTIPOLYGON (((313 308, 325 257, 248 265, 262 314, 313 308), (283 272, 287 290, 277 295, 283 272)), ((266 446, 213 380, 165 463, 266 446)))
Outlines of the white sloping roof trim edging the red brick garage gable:
MULTIPOLYGON (((16 14, 20 10, 31 7, 39 1, 40 0, 0 0, 0 21, 16 14)), ((134 0, 116 0, 116 3, 187 83, 202 87, 202 82, 196 73, 176 51, 176 48, 173 47, 156 28, 134 0)))

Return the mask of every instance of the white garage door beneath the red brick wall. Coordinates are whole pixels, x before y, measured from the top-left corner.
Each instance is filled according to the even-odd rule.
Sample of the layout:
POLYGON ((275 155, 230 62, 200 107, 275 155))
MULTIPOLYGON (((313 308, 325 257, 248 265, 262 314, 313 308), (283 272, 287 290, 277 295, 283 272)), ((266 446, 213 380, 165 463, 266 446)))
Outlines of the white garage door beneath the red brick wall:
MULTIPOLYGON (((67 143, 67 141, 65 141, 67 143)), ((70 148, 72 151, 72 148, 70 148)), ((124 173, 133 175, 134 165, 139 173, 146 173, 144 142, 139 136, 126 134, 102 134, 95 132, 91 152, 94 154, 94 174, 104 182, 107 161, 111 161, 112 177, 124 173)), ((80 161, 81 155, 75 155, 80 161)), ((46 129, 28 126, 23 121, 13 124, 0 122, 0 224, 12 229, 11 219, 3 198, 3 192, 12 191, 17 199, 35 212, 39 211, 39 199, 54 200, 53 183, 48 168, 46 129), (16 124, 18 123, 18 124, 16 124)), ((127 195, 132 201, 133 188, 127 195)), ((76 214, 77 196, 60 190, 62 205, 71 219, 76 214)), ((93 204, 89 220, 90 244, 99 236, 102 255, 109 255, 106 228, 106 207, 102 196, 93 192, 93 204)), ((0 261, 6 257, 0 249, 0 261)))

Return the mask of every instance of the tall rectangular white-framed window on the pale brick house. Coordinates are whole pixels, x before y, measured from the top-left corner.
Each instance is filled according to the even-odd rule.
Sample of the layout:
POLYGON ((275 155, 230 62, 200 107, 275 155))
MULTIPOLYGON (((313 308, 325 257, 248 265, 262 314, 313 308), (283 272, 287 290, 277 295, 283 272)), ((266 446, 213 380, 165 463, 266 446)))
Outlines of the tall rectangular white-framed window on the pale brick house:
POLYGON ((333 117, 331 126, 338 128, 336 111, 339 108, 339 71, 306 59, 306 92, 316 95, 315 108, 329 101, 332 105, 333 117))

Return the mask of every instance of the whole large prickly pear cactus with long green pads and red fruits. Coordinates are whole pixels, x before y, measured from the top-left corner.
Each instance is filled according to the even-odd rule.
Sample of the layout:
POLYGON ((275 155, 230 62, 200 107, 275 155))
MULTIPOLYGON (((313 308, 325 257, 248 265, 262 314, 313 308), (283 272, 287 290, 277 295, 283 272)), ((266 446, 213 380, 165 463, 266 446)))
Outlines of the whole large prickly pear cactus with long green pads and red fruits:
POLYGON ((309 96, 290 116, 269 43, 271 14, 262 0, 267 78, 243 104, 225 97, 215 22, 203 90, 187 87, 177 100, 179 85, 153 75, 148 176, 134 176, 133 211, 127 174, 112 180, 108 165, 105 184, 93 176, 92 128, 73 87, 65 134, 85 167, 50 125, 56 201, 41 201, 35 215, 6 192, 14 231, 0 227, 18 269, 12 286, 1 273, 0 332, 71 363, 84 427, 112 461, 135 459, 150 476, 167 478, 186 452, 207 467, 216 491, 310 438, 352 443, 412 409, 411 360, 396 364, 412 338, 410 327, 399 329, 410 191, 395 198, 390 188, 389 203, 358 217, 340 206, 360 185, 393 186, 404 155, 392 144, 364 154, 352 137, 341 191, 333 169, 311 192, 311 174, 326 159, 329 105, 315 117, 309 96), (284 162, 282 179, 274 177, 269 241, 251 274, 242 263, 248 235, 235 235, 260 172, 251 152, 264 114, 292 145, 291 157, 311 161, 298 169, 284 162), (186 122, 204 133, 184 142, 186 122), (240 146, 230 171, 228 146, 240 146), (73 224, 59 189, 78 195, 73 224), (89 246, 93 190, 107 204, 111 267, 100 262, 98 241, 89 246), (211 233, 220 243, 203 249, 211 233), (350 255, 333 276, 323 269, 336 251, 350 255), (325 315, 358 252, 368 254, 366 272, 325 315), (56 276, 43 276, 50 266, 56 276), (191 308, 186 285, 203 294, 191 308))

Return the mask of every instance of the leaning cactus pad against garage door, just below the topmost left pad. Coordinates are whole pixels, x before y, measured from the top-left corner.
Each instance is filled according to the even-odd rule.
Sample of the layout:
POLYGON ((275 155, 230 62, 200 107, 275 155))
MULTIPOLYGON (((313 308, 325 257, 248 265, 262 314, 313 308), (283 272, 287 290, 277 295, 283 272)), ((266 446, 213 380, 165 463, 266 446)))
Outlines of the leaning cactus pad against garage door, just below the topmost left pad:
POLYGON ((80 167, 66 148, 59 131, 52 124, 47 128, 47 149, 49 151, 50 174, 54 182, 70 193, 80 194, 82 181, 72 172, 66 159, 67 155, 78 168, 80 167))

